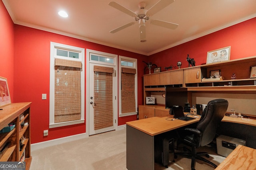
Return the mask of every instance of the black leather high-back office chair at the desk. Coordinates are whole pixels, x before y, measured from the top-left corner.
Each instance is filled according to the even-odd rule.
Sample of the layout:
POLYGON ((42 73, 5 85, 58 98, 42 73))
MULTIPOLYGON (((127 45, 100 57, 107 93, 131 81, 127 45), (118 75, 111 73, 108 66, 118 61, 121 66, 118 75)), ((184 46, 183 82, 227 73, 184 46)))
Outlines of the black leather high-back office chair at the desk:
POLYGON ((191 159, 191 170, 195 170, 196 159, 207 162, 216 168, 216 164, 206 160, 200 155, 210 157, 207 152, 196 152, 198 147, 203 147, 212 142, 215 137, 216 129, 224 117, 228 108, 228 101, 224 99, 216 99, 208 102, 206 108, 202 113, 196 129, 185 128, 185 131, 190 132, 182 138, 184 144, 192 148, 189 153, 175 153, 175 155, 184 155, 191 159))

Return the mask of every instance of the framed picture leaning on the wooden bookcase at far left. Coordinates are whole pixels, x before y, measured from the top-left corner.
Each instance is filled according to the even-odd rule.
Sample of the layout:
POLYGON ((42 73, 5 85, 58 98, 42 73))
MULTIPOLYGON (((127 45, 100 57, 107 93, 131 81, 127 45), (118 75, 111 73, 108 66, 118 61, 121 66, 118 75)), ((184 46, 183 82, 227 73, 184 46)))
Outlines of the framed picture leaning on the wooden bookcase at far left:
POLYGON ((0 77, 0 107, 11 104, 11 97, 7 79, 0 77))

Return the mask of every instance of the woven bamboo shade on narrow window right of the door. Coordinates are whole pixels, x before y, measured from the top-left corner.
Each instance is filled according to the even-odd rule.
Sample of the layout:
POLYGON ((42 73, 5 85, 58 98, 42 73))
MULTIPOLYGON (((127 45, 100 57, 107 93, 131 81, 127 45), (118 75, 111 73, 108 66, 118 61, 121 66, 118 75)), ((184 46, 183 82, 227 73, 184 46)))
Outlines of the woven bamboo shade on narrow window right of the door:
POLYGON ((134 68, 121 68, 121 95, 122 95, 122 113, 131 113, 136 111, 135 103, 135 74, 134 68))

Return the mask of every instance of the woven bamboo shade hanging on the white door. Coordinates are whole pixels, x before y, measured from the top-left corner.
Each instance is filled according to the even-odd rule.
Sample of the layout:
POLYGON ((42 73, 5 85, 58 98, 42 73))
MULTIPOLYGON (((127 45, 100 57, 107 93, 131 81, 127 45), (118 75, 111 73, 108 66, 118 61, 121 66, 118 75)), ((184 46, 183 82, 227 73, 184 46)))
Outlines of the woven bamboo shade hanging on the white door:
POLYGON ((113 68, 94 66, 94 130, 113 126, 113 68))

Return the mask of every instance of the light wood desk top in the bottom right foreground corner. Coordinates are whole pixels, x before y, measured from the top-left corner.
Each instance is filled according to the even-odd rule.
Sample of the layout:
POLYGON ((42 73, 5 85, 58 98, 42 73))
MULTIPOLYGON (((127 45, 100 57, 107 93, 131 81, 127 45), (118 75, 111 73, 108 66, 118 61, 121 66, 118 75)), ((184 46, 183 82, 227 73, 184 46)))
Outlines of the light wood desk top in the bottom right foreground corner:
POLYGON ((255 170, 256 149, 238 145, 215 170, 255 170))

